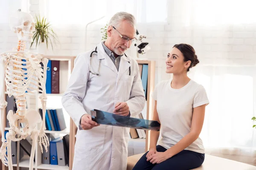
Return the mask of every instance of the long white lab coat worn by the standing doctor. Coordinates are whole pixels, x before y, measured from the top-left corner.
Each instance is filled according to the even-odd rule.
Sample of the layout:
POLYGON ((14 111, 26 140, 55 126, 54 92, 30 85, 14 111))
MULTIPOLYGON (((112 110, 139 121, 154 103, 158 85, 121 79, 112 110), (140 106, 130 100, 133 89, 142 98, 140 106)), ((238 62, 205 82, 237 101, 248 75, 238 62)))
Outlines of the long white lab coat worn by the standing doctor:
MULTIPOLYGON (((62 104, 76 126, 79 127, 81 116, 90 114, 93 109, 113 113, 116 102, 127 102, 131 116, 140 113, 145 95, 136 60, 123 55, 117 71, 100 43, 98 54, 94 53, 91 58, 91 71, 96 73, 99 68, 99 76, 96 76, 89 73, 92 51, 94 49, 77 56, 62 97, 62 104)), ((78 130, 73 170, 126 170, 129 131, 127 127, 108 125, 78 130)))

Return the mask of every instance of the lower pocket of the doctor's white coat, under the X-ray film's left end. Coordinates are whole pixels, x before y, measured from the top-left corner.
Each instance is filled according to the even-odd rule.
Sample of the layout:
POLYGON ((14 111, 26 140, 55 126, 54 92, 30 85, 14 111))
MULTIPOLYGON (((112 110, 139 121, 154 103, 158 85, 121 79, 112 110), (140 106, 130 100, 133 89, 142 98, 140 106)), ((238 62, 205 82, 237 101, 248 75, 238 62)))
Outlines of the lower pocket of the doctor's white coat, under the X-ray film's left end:
POLYGON ((105 125, 93 127, 90 130, 79 130, 77 147, 87 149, 103 149, 105 139, 105 125))

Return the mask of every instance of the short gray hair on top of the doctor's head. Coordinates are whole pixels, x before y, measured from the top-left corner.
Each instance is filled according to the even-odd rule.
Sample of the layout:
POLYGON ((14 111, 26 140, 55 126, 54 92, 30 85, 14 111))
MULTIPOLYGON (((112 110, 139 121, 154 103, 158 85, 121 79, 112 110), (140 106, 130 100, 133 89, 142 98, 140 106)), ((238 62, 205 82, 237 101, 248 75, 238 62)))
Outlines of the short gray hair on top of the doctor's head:
POLYGON ((129 14, 128 12, 117 12, 116 14, 111 17, 111 20, 108 23, 108 26, 115 26, 119 27, 119 24, 126 20, 128 23, 131 24, 132 27, 135 28, 135 17, 132 14, 129 14))

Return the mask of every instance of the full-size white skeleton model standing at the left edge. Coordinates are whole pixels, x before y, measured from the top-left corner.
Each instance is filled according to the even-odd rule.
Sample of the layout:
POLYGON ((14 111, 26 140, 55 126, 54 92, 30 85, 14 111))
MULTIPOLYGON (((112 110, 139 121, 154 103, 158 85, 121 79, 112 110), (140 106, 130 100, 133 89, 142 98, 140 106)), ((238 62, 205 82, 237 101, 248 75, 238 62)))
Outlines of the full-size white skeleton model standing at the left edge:
POLYGON ((0 149, 0 159, 4 165, 12 170, 12 151, 11 141, 20 141, 27 136, 32 138, 32 149, 30 156, 29 170, 33 170, 33 160, 35 155, 35 146, 38 142, 43 153, 44 145, 47 151, 49 140, 44 133, 45 127, 45 112, 47 95, 45 91, 46 69, 48 59, 43 59, 41 55, 25 50, 25 42, 32 42, 32 32, 35 31, 35 23, 33 17, 25 12, 17 11, 17 14, 10 19, 12 30, 17 32, 18 46, 13 51, 7 51, 0 54, 0 114, 2 119, 2 135, 4 134, 4 109, 7 102, 4 98, 4 83, 8 96, 14 96, 17 105, 16 113, 12 110, 8 112, 7 119, 9 120, 10 129, 6 133, 6 140, 2 137, 2 146, 0 149), (40 62, 43 63, 44 69, 41 68, 40 62), (41 85, 40 85, 40 84, 41 85), (40 90, 41 88, 42 90, 40 90), (26 109, 26 94, 34 94, 41 92, 39 96, 43 108, 43 122, 38 111, 26 109), (23 122, 25 127, 20 130, 18 122, 23 122), (38 131, 37 124, 41 124, 38 131), (18 136, 16 138, 15 136, 18 136), (6 156, 7 147, 7 156, 6 156))

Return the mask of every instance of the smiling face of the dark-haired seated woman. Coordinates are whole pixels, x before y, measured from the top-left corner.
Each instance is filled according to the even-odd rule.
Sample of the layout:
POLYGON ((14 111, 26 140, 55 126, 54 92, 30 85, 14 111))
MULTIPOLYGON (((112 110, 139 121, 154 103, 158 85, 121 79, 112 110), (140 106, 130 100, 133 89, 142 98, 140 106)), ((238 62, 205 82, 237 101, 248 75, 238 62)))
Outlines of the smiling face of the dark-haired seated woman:
POLYGON ((184 62, 184 56, 177 48, 172 48, 166 58, 166 73, 182 74, 187 71, 191 61, 184 62))

